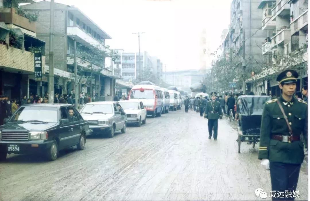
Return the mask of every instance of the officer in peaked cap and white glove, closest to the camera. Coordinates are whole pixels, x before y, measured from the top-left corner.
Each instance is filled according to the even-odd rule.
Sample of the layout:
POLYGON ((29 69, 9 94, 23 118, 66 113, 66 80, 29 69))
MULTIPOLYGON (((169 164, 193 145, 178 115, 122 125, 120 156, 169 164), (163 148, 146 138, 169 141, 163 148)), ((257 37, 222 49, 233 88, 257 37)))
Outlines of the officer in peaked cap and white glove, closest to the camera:
POLYGON ((308 141, 308 105, 294 98, 298 76, 294 70, 281 72, 277 81, 282 95, 266 102, 263 109, 258 158, 270 169, 271 188, 276 192, 272 200, 294 200, 277 193, 294 195, 304 160, 301 134, 308 141))

